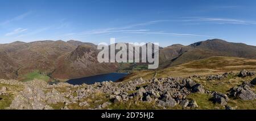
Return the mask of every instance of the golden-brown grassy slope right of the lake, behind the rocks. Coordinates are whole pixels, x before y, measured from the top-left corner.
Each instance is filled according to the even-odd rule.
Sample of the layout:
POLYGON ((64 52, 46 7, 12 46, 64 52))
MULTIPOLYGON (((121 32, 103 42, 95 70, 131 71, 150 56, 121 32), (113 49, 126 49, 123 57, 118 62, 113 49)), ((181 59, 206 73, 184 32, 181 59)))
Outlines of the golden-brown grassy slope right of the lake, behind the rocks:
POLYGON ((238 72, 242 69, 256 70, 256 60, 238 57, 209 57, 191 61, 185 64, 168 67, 159 70, 134 71, 123 81, 134 80, 135 78, 152 78, 155 72, 156 77, 188 77, 197 75, 218 74, 224 72, 238 72))

